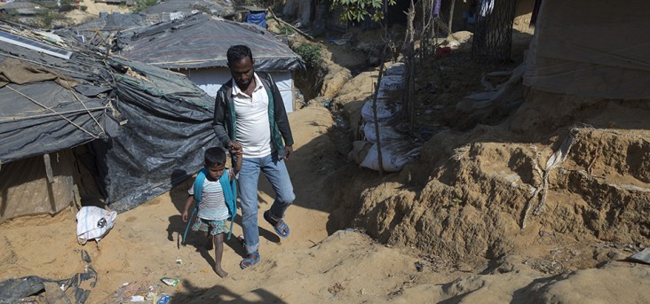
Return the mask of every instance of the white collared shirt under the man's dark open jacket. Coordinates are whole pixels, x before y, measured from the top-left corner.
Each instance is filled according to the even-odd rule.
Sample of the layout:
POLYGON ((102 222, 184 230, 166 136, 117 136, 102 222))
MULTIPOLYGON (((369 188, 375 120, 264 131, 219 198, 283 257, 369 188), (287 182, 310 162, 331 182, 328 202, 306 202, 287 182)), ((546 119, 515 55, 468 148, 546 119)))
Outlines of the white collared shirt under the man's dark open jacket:
POLYGON ((233 100, 237 141, 242 144, 243 157, 259 158, 271 154, 271 127, 268 121, 268 95, 255 77, 252 96, 246 95, 233 80, 233 100))

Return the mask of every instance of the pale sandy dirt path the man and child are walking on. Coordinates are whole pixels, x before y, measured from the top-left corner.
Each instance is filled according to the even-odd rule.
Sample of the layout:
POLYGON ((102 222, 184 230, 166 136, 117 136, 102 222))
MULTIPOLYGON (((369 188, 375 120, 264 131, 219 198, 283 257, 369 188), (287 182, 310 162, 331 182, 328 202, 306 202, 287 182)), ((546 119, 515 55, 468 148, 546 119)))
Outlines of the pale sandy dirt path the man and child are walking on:
MULTIPOLYGON (((133 296, 163 293, 172 295, 172 303, 644 303, 650 296, 650 267, 641 264, 609 259, 598 269, 551 276, 521 255, 503 257, 495 268, 483 259, 457 262, 408 246, 384 246, 363 230, 328 231, 330 194, 323 181, 335 163, 322 160, 336 153, 328 136, 334 122, 317 106, 291 113, 289 120, 297 143, 288 162, 297 192, 286 217, 291 234, 277 237, 259 216, 262 261, 252 269, 239 269, 244 252, 234 238, 224 253, 226 278, 212 271, 213 254, 202 249, 201 238, 192 235, 187 246, 179 246, 188 181, 119 214, 101 249, 76 243, 72 207, 53 217, 3 223, 0 279, 64 279, 91 266, 96 285, 89 285, 94 279, 81 285, 91 291, 87 303, 127 303, 133 296), (82 260, 83 251, 90 262, 82 260), (163 277, 180 283, 164 285, 163 277)), ((263 185, 260 210, 269 207, 268 193, 263 185)), ((237 223, 234 235, 240 233, 237 223)))

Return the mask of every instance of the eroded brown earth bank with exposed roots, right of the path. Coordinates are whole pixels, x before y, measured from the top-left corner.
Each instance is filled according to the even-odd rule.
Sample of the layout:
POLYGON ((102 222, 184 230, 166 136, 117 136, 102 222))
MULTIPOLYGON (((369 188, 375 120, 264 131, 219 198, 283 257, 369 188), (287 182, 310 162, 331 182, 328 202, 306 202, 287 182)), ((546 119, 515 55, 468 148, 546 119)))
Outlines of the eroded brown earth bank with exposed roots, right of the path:
MULTIPOLYGON (((352 117, 361 103, 345 93, 363 88, 357 78, 335 100, 352 117)), ((650 105, 528 90, 509 114, 517 90, 464 114, 458 105, 472 101, 429 97, 443 110, 419 121, 439 126, 420 159, 384 178, 342 169, 329 183, 348 191, 335 192, 329 230, 361 227, 381 243, 418 249, 434 269, 476 274, 437 293, 455 295, 430 299, 645 302, 650 268, 623 260, 649 244, 650 105)), ((436 288, 412 292, 427 289, 436 288)))

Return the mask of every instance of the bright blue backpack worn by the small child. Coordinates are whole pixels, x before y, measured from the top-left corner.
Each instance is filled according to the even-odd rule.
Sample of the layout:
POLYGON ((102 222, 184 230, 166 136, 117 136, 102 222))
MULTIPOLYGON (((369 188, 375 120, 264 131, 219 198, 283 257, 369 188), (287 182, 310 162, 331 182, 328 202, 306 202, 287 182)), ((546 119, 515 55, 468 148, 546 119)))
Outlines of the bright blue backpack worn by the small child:
MULTIPOLYGON (((187 220, 187 226, 185 228, 185 233, 183 233, 183 244, 186 242, 187 230, 189 230, 190 225, 192 225, 192 218, 194 213, 199 209, 199 203, 201 202, 201 196, 203 192, 203 182, 205 181, 205 176, 207 176, 208 169, 202 168, 199 173, 196 175, 196 180, 194 180, 194 201, 196 205, 187 220)), ((228 220, 230 220, 230 231, 228 231, 228 239, 230 239, 233 234, 233 222, 234 215, 237 214, 237 183, 231 181, 228 178, 226 172, 219 178, 219 183, 221 184, 221 189, 224 191, 224 198, 226 199, 226 207, 228 208, 228 220)))

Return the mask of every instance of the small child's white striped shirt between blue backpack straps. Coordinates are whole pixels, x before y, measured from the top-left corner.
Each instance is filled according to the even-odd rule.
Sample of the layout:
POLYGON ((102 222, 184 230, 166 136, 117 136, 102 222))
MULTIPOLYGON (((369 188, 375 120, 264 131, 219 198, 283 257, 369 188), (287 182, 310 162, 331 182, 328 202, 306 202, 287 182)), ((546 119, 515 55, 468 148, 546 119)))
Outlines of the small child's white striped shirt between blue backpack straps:
MULTIPOLYGON (((224 174, 232 181, 235 177, 233 170, 224 169, 224 174)), ((194 183, 196 181, 194 180, 194 183)), ((189 195, 194 195, 194 183, 190 187, 189 195)), ((226 197, 221 183, 218 180, 210 181, 208 178, 203 181, 203 191, 201 202, 199 202, 199 218, 208 221, 226 221, 228 218, 228 207, 226 207, 226 197)))

